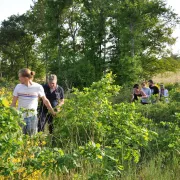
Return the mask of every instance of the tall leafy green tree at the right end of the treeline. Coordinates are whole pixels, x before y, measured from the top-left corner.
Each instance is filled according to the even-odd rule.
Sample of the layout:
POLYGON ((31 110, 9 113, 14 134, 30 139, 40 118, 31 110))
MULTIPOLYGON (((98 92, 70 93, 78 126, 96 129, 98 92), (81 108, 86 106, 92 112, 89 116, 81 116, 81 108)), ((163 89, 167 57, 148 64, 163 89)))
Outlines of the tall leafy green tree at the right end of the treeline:
POLYGON ((173 44, 172 28, 176 15, 164 1, 113 1, 109 18, 111 68, 120 84, 151 76, 151 66, 167 44, 173 44))

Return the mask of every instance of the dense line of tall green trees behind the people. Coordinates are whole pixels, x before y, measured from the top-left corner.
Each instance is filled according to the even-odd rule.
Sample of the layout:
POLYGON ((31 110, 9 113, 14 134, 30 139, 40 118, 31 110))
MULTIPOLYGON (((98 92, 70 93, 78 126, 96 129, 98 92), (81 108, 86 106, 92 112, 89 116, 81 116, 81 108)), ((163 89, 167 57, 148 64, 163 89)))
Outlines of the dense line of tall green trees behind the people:
POLYGON ((53 72, 66 89, 82 88, 112 71, 117 83, 179 68, 166 58, 177 15, 164 0, 38 0, 0 27, 0 73, 22 67, 53 72))

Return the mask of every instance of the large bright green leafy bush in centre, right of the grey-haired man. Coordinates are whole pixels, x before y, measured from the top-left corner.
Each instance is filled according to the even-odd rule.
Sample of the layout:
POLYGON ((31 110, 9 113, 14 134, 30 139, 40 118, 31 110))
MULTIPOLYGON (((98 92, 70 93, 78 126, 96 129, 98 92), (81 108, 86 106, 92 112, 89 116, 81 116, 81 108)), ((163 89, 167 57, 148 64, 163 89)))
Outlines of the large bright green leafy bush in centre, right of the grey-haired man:
MULTIPOLYGON (((107 74, 83 92, 74 90, 55 121, 56 145, 66 152, 74 152, 79 146, 87 149, 89 142, 98 144, 104 154, 96 154, 102 158, 103 168, 98 170, 101 176, 105 174, 103 169, 120 172, 128 162, 137 163, 140 147, 147 146, 156 135, 147 128, 151 121, 135 111, 135 104, 111 103, 109 98, 120 89, 113 83, 112 75, 107 74)), ((85 152, 83 156, 96 159, 93 150, 85 152)))

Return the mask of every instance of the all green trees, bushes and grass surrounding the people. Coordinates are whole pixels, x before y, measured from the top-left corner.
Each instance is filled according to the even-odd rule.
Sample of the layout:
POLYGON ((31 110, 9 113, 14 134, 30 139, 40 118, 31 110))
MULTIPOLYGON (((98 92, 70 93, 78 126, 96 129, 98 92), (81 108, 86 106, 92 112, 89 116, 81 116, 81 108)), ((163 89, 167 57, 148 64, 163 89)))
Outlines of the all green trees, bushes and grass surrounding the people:
POLYGON ((169 103, 129 103, 133 83, 180 69, 167 46, 177 23, 164 0, 38 0, 4 20, 0 180, 178 180, 179 84, 166 85, 169 103), (23 135, 9 107, 24 67, 68 90, 52 135, 23 135))

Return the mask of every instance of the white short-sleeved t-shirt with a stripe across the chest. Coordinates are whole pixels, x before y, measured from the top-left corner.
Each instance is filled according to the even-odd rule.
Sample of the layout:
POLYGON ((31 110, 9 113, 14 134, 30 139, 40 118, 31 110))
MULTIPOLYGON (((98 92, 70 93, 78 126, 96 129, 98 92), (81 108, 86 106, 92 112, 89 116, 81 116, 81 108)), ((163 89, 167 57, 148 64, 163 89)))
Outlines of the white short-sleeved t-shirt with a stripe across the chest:
POLYGON ((19 110, 23 108, 33 111, 23 114, 23 117, 30 117, 37 114, 38 98, 45 96, 45 93, 40 84, 32 82, 30 86, 18 84, 14 89, 13 96, 18 97, 19 110))

